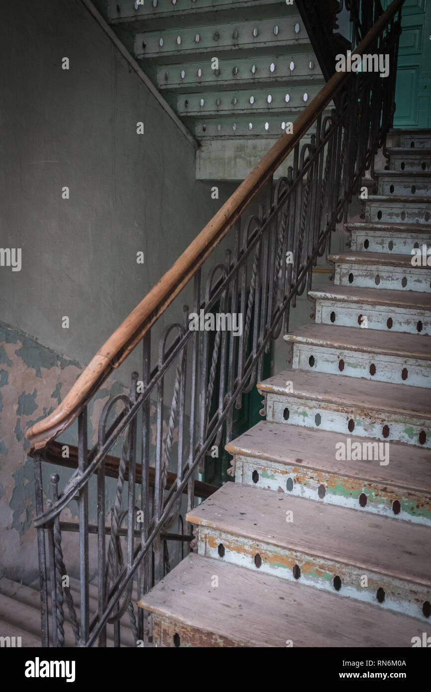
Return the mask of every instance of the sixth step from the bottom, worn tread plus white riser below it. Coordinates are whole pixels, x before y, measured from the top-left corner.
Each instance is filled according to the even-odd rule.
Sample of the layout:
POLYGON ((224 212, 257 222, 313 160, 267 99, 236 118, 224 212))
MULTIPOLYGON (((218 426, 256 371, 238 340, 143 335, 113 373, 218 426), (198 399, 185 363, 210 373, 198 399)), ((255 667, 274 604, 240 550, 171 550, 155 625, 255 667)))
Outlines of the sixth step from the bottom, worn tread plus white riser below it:
POLYGON ((309 291, 315 321, 325 325, 431 334, 431 295, 416 291, 333 286, 309 291))

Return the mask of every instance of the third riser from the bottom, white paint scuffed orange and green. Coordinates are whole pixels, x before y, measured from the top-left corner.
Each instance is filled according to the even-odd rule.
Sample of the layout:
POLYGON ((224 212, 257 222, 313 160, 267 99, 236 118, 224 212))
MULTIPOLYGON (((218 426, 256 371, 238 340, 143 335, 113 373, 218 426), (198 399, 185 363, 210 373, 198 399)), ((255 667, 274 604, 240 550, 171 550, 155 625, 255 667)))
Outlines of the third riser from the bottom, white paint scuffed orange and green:
MULTIPOLYGON (((341 441, 341 440, 340 440, 341 441)), ((384 459, 384 449, 380 457, 384 459)), ((336 450, 334 450, 335 458, 336 450)), ((347 461, 346 473, 354 461, 347 461)), ((373 459, 370 464, 380 464, 373 459)), ((385 462, 384 462, 385 463, 385 462)), ((389 449, 390 464, 390 449, 389 449)), ((286 495, 297 495, 326 504, 336 504, 361 512, 369 512, 431 526, 430 498, 423 493, 401 490, 383 483, 364 482, 360 478, 348 475, 335 475, 327 471, 316 471, 314 468, 279 464, 268 459, 237 455, 235 457, 235 482, 265 488, 286 495), (257 477, 257 475, 258 477, 257 477), (257 479, 256 482, 254 479, 257 479), (367 498, 367 504, 363 507, 367 498), (394 505, 394 502, 399 502, 394 505), (398 511, 397 514, 394 513, 398 511)))

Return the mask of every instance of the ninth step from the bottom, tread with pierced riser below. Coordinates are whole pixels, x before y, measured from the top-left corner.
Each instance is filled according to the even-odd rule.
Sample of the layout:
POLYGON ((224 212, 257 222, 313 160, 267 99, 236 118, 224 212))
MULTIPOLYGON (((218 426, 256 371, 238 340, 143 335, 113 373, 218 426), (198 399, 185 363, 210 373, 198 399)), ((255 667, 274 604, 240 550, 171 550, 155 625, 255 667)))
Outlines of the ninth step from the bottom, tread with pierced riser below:
POLYGON ((430 224, 431 197, 415 195, 375 195, 365 200, 365 221, 383 221, 390 224, 430 224))

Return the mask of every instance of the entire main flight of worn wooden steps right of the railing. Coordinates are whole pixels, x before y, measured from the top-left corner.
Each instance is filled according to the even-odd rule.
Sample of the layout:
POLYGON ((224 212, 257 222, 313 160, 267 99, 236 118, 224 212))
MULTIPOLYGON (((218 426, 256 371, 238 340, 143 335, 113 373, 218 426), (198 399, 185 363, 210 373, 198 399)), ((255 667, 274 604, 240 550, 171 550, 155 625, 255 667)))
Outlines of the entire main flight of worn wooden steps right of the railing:
POLYGON ((191 553, 139 605, 158 646, 410 647, 431 616, 431 131, 393 131, 365 219, 330 255, 266 421, 187 520, 191 553))

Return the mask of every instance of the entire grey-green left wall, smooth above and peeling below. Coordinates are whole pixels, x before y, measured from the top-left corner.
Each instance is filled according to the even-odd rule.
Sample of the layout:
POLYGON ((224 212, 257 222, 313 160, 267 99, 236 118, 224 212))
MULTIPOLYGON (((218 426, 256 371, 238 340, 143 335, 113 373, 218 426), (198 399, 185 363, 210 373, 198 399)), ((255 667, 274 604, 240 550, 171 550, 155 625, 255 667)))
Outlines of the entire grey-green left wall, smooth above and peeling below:
MULTIPOLYGON (((194 181, 191 143, 80 0, 2 10, 0 246, 22 248, 22 268, 0 267, 0 577, 30 583, 38 567, 25 430, 64 398, 232 185, 219 184, 213 200, 212 183, 194 181), (62 199, 64 185, 70 199, 62 199)), ((89 444, 104 403, 125 391, 133 367, 91 402, 89 444)), ((155 441, 154 425, 152 433, 155 441)), ((76 426, 61 439, 76 444, 76 426)), ((45 468, 45 487, 53 471, 60 487, 71 475, 45 468)), ((114 491, 108 480, 108 506, 114 491)), ((71 504, 62 518, 73 520, 73 511, 71 504)), ((72 576, 76 538, 64 538, 72 576)))

